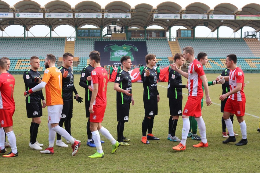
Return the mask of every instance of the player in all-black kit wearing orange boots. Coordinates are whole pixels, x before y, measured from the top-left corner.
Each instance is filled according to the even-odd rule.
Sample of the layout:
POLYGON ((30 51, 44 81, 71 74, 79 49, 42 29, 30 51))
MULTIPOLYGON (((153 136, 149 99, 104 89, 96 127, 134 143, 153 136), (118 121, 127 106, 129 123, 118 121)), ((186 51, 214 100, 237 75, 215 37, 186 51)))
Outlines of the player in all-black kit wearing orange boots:
POLYGON ((150 142, 147 139, 160 140, 153 136, 153 119, 158 112, 158 102, 160 101, 159 92, 157 90, 157 76, 153 66, 156 65, 156 56, 148 54, 145 56, 146 68, 141 72, 143 82, 143 104, 144 104, 144 119, 142 123, 143 137, 141 141, 145 144, 150 142), (146 131, 148 134, 146 137, 146 131))

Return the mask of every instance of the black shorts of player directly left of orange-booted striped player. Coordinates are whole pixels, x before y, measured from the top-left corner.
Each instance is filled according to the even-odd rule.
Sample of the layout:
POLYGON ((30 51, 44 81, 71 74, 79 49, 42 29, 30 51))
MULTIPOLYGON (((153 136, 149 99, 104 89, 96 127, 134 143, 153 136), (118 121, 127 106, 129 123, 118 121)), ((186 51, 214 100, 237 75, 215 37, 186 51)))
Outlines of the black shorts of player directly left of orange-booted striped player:
POLYGON ((169 98, 170 115, 182 115, 182 97, 169 98))

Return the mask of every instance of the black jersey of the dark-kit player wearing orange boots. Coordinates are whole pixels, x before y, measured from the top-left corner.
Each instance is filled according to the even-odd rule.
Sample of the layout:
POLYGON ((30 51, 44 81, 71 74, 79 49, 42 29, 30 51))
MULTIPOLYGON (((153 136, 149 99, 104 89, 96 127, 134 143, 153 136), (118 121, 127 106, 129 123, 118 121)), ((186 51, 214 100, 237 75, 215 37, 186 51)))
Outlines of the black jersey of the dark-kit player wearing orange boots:
POLYGON ((141 72, 141 78, 143 82, 143 98, 144 99, 157 99, 159 92, 157 90, 157 76, 155 69, 145 67, 150 71, 150 75, 146 76, 145 70, 141 72))

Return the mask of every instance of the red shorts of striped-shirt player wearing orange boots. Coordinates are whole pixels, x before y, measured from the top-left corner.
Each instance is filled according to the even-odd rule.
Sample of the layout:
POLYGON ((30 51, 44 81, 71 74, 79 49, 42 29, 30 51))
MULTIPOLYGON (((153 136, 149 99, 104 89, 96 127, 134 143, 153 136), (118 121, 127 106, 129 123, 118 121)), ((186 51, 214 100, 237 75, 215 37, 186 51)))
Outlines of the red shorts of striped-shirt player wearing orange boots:
POLYGON ((200 117, 201 116, 201 97, 189 96, 185 104, 182 115, 200 117))

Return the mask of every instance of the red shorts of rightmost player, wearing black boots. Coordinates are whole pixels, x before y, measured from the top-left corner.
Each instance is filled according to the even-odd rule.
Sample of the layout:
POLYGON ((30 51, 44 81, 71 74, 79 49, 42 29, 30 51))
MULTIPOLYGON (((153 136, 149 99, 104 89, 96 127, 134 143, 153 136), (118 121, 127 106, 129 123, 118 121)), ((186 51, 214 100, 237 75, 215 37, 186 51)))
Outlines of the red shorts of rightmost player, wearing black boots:
POLYGON ((224 112, 236 114, 236 116, 240 117, 245 115, 245 107, 246 101, 236 101, 228 98, 224 108, 224 112))

